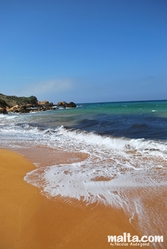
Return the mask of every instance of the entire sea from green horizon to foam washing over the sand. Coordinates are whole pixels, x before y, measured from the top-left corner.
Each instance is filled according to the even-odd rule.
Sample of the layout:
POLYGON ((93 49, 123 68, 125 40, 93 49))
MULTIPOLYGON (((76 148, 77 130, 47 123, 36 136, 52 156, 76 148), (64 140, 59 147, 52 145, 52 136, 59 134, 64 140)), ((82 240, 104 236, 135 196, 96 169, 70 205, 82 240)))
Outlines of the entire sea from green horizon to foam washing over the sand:
POLYGON ((1 148, 43 146, 88 154, 81 162, 47 165, 42 172, 36 168, 24 180, 48 198, 123 208, 130 222, 138 217, 143 232, 164 233, 167 100, 81 103, 76 108, 1 114, 0 141, 1 148))

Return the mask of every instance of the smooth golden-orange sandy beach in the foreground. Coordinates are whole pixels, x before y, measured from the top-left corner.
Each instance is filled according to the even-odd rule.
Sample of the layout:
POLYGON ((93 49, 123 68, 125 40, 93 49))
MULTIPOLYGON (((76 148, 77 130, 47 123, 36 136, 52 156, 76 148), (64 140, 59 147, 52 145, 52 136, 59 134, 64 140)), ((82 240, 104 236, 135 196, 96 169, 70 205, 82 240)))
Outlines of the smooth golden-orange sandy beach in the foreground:
MULTIPOLYGON (((60 162, 71 158, 63 152, 56 155, 60 162)), ((72 156, 74 160, 85 158, 81 154, 72 156)), ((33 154, 29 153, 27 158, 30 160, 31 157, 33 154)), ((22 155, 0 149, 0 161, 0 248, 127 248, 112 247, 107 235, 124 232, 140 235, 122 209, 46 198, 39 189, 23 180, 35 166, 22 155)))

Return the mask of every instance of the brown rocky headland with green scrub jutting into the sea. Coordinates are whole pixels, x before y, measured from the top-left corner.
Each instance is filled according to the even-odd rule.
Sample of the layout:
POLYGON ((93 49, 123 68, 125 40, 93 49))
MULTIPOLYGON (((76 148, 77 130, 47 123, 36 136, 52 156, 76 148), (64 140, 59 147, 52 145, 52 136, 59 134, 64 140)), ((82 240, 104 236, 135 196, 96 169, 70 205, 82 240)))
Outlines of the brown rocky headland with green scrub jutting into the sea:
POLYGON ((28 113, 28 112, 37 112, 37 111, 46 111, 46 110, 55 110, 58 107, 76 107, 74 102, 66 103, 58 102, 57 105, 54 105, 52 102, 47 100, 38 101, 35 96, 30 97, 17 97, 17 96, 7 96, 0 94, 0 113, 7 114, 10 112, 16 113, 28 113))

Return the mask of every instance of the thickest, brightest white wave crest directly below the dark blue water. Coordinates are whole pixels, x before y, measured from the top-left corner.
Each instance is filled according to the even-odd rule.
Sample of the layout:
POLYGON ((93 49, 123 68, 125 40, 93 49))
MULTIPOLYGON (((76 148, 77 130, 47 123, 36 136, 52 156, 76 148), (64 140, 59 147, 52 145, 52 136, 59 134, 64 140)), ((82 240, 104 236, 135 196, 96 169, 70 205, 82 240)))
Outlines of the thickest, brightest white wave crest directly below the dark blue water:
POLYGON ((100 149, 112 149, 116 151, 137 150, 140 152, 151 153, 152 155, 167 154, 167 143, 145 139, 126 139, 100 136, 94 133, 86 133, 80 131, 69 131, 61 127, 57 131, 58 135, 64 136, 68 142, 77 144, 86 144, 87 146, 95 146, 100 149))

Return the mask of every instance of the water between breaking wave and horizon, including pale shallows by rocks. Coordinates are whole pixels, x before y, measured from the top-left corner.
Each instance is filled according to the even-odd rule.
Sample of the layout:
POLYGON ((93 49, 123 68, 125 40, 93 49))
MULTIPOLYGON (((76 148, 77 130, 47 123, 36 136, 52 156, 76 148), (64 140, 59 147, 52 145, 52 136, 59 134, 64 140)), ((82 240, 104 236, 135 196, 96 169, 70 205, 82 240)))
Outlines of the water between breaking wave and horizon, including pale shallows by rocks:
POLYGON ((8 127, 9 136, 11 130, 23 134, 31 127, 46 131, 62 126, 110 138, 166 141, 167 101, 86 103, 75 109, 1 115, 0 119, 1 134, 8 127))

